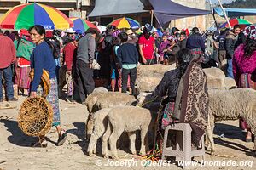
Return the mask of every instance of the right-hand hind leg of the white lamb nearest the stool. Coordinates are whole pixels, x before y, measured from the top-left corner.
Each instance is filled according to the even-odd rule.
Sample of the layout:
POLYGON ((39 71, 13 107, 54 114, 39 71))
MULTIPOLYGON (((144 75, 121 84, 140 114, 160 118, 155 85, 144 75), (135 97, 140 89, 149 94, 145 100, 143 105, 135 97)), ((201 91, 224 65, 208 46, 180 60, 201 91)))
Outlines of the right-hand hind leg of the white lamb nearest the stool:
POLYGON ((115 127, 115 128, 113 127, 113 133, 111 133, 109 137, 109 145, 110 145, 110 150, 112 152, 112 157, 116 159, 119 159, 116 143, 123 132, 124 132, 124 129, 120 127, 115 127))

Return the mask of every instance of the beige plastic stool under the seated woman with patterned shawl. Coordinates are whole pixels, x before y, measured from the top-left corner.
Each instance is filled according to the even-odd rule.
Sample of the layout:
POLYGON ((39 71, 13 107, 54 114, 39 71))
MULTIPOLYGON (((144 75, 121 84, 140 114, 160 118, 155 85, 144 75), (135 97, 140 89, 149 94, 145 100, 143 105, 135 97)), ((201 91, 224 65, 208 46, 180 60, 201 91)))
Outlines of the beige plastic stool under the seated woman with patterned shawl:
MULTIPOLYGON (((162 151, 162 160, 165 160, 166 156, 176 157, 176 161, 180 161, 181 158, 183 162, 191 161, 194 156, 202 156, 203 162, 205 161, 205 145, 204 145, 204 135, 201 137, 201 141, 198 147, 192 148, 192 129, 189 123, 177 123, 174 127, 167 126, 164 135, 164 144, 162 151), (167 147, 167 139, 169 131, 176 131, 176 142, 174 146, 167 147)), ((183 168, 185 163, 183 163, 183 168)))

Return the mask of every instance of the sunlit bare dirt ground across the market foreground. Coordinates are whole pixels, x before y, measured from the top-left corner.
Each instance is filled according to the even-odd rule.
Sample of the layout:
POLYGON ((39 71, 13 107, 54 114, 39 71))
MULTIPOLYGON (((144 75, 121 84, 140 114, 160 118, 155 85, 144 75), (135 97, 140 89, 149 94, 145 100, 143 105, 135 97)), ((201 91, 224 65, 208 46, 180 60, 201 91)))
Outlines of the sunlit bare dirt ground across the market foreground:
MULTIPOLYGON (((0 170, 37 170, 37 169, 181 169, 173 161, 152 164, 139 156, 132 156, 124 150, 119 150, 119 161, 87 155, 88 142, 84 139, 84 121, 88 116, 85 105, 71 104, 60 101, 61 126, 67 130, 67 142, 56 146, 57 133, 52 128, 47 134, 47 148, 33 148, 31 144, 37 139, 28 137, 20 131, 17 115, 24 97, 20 97, 15 109, 0 109, 0 170)), ((5 106, 8 103, 0 105, 5 106)), ((218 122, 214 132, 214 140, 219 155, 206 154, 205 165, 200 163, 189 169, 256 169, 256 156, 253 155, 253 142, 243 141, 245 133, 238 128, 238 121, 218 122)), ((100 146, 98 147, 100 152, 100 146)), ((127 149, 126 149, 127 150, 127 149)), ((201 157, 195 157, 201 161, 201 157)), ((196 161, 194 161, 196 162, 196 161)), ((197 163, 197 162, 196 162, 197 163)))

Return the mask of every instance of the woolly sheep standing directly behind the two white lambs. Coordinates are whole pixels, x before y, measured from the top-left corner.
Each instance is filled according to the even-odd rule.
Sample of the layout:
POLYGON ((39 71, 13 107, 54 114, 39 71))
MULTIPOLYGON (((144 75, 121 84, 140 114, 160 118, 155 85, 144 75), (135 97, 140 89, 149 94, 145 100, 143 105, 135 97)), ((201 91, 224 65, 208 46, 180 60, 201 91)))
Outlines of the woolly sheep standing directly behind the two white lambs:
POLYGON ((89 111, 90 116, 87 118, 85 137, 90 139, 90 135, 93 132, 94 121, 93 113, 103 109, 112 108, 115 106, 126 105, 126 103, 131 102, 135 99, 133 95, 121 94, 116 92, 108 93, 92 93, 85 100, 85 105, 89 111))

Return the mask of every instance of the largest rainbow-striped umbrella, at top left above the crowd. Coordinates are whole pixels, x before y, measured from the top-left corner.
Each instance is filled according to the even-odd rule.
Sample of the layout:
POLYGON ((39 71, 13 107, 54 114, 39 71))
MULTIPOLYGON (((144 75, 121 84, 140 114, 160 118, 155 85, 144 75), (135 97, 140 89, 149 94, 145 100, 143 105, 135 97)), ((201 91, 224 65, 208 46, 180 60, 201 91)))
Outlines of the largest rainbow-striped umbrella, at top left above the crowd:
POLYGON ((4 29, 28 29, 35 25, 44 26, 48 30, 64 30, 72 27, 73 22, 56 8, 39 3, 15 6, 0 18, 0 27, 4 29))

